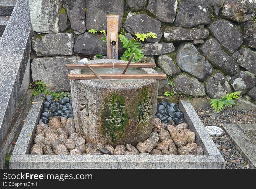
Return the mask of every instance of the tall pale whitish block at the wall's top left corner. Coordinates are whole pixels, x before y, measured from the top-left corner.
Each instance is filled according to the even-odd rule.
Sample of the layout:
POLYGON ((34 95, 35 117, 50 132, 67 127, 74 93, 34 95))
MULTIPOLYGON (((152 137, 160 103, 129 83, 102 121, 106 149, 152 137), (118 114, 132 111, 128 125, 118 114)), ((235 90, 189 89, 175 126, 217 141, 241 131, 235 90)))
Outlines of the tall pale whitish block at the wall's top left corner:
POLYGON ((60 0, 29 0, 29 10, 33 31, 38 33, 58 33, 60 0))

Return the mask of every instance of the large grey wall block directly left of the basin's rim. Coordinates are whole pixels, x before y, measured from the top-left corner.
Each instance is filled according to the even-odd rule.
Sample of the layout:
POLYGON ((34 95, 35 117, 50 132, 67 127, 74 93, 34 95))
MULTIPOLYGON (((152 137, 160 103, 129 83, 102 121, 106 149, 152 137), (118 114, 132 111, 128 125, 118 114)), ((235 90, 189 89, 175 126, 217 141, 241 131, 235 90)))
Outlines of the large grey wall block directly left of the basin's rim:
POLYGON ((78 56, 34 58, 31 63, 32 79, 40 79, 50 91, 70 91, 69 71, 66 64, 78 64, 78 56))

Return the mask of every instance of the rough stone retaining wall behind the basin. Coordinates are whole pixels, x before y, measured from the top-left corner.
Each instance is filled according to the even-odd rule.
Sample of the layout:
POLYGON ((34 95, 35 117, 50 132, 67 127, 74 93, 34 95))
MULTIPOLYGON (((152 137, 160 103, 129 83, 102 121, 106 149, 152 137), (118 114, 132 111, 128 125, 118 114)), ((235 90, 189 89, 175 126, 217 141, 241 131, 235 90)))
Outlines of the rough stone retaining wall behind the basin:
MULTIPOLYGON (((63 64, 106 55, 100 30, 106 15, 119 15, 126 36, 154 32, 142 45, 144 61, 155 61, 165 91, 186 96, 221 98, 242 91, 256 99, 255 0, 29 0, 34 35, 31 39, 33 80, 52 91, 69 90, 63 64), (93 28, 98 34, 90 34, 93 28)), ((119 55, 124 49, 119 45, 119 55)))

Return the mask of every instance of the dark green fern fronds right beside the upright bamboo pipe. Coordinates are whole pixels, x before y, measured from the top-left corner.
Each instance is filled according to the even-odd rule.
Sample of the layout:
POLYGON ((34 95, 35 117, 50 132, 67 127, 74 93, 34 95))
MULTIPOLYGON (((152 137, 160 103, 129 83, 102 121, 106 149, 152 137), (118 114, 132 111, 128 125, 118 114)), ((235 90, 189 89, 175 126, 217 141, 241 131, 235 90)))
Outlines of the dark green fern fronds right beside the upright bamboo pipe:
POLYGON ((123 48, 126 48, 124 54, 120 57, 120 60, 128 61, 133 53, 135 53, 133 60, 139 62, 144 57, 141 51, 141 42, 135 39, 127 39, 124 35, 119 34, 120 41, 123 43, 123 48))

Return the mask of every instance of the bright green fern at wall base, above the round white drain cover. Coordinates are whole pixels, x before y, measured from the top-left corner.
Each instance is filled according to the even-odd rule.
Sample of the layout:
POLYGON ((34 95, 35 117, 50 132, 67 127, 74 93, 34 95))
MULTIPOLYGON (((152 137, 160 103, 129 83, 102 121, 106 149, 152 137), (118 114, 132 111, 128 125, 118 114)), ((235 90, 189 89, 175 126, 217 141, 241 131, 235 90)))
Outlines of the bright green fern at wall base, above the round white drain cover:
POLYGON ((211 107, 213 107, 214 111, 217 113, 220 113, 220 111, 223 110, 224 106, 227 108, 231 108, 233 105, 235 105, 235 101, 233 99, 240 98, 238 94, 241 93, 241 91, 234 92, 234 93, 228 93, 225 97, 222 97, 220 99, 213 98, 211 99, 211 107))

